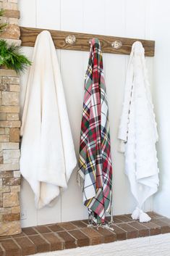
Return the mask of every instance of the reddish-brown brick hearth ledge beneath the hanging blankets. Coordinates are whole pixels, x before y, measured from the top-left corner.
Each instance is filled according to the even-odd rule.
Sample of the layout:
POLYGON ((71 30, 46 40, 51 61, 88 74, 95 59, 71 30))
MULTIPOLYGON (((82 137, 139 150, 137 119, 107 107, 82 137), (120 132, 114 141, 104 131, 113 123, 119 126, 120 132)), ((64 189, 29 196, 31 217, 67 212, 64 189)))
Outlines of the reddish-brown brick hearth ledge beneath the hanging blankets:
POLYGON ((88 220, 22 228, 22 233, 0 237, 0 256, 33 255, 61 249, 84 247, 124 239, 170 233, 170 219, 148 212, 152 220, 139 223, 130 215, 114 217, 114 231, 89 228, 88 220))

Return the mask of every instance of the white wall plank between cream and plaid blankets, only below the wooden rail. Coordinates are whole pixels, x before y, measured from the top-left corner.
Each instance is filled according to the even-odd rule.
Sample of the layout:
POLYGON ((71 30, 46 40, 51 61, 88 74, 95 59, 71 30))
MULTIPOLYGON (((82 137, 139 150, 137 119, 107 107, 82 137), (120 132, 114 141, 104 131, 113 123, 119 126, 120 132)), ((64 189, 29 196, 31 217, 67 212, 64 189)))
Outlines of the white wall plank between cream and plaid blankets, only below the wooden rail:
MULTIPOLYGON (((61 51, 61 75, 67 101, 72 136, 78 158, 80 122, 82 115, 83 69, 82 54, 76 51, 61 51), (68 59, 70 61, 68 61, 68 59)), ((61 193, 61 220, 83 217, 82 192, 77 185, 77 168, 72 174, 68 189, 61 193), (68 214, 69 213, 69 214, 68 214)))

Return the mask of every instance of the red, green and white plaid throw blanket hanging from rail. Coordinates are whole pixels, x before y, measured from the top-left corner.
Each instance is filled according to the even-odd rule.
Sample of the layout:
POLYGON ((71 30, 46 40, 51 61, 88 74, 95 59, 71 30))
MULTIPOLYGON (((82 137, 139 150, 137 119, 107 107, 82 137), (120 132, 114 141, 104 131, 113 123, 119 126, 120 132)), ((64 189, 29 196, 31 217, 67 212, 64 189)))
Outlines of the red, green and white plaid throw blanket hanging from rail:
POLYGON ((79 168, 77 180, 82 186, 90 223, 105 223, 106 212, 111 210, 112 166, 109 111, 98 38, 91 41, 85 78, 79 168))

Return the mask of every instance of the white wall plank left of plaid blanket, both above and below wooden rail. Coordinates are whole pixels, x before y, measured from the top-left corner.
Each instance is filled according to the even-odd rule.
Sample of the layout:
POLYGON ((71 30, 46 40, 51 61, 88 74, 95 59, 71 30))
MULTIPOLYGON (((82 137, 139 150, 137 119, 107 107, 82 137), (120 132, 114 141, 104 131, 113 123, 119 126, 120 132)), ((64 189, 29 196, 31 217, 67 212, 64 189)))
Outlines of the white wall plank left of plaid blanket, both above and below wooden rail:
MULTIPOLYGON (((82 1, 61 1, 61 30, 82 31, 82 1), (76 12, 75 12, 76 7, 76 12)), ((75 151, 79 154, 80 121, 82 115, 83 94, 83 54, 81 51, 61 50, 61 75, 67 101, 75 151)), ((82 191, 77 185, 77 168, 69 180, 68 189, 61 193, 61 221, 83 218, 82 191)))

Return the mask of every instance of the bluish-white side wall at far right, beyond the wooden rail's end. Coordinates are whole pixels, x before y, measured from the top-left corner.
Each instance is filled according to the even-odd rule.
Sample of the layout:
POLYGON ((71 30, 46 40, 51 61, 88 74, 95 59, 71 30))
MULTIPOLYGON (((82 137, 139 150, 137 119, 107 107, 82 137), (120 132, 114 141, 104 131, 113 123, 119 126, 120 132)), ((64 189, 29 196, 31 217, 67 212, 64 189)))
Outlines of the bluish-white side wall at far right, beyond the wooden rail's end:
POLYGON ((152 5, 152 36, 156 40, 156 57, 154 62, 154 103, 156 111, 156 119, 158 123, 159 140, 158 149, 158 165, 160 169, 159 178, 160 186, 158 193, 154 197, 153 209, 170 218, 169 194, 170 194, 170 158, 169 158, 169 37, 170 31, 170 5, 169 1, 151 0, 152 5))

